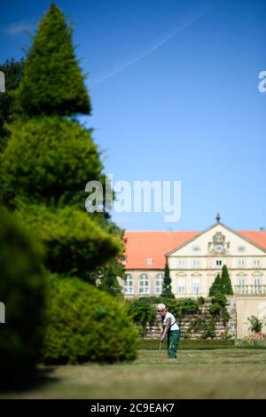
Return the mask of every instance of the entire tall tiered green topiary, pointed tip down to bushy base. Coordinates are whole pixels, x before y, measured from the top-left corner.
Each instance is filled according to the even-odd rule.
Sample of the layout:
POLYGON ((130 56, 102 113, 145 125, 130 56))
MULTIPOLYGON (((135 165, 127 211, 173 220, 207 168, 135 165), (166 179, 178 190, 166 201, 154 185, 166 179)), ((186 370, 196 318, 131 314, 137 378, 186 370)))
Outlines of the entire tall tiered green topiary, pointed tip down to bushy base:
MULTIPOLYGON (((2 193, 2 199, 46 249, 44 279, 52 292, 46 315, 48 344, 44 346, 44 358, 72 362, 88 357, 109 360, 106 334, 115 358, 135 358, 135 347, 129 348, 135 340, 133 327, 129 338, 124 338, 125 343, 120 342, 118 334, 121 327, 125 331, 129 328, 130 318, 123 303, 100 293, 98 288, 91 290, 88 282, 81 281, 96 284, 95 271, 102 269, 110 290, 116 274, 115 262, 124 247, 122 232, 109 215, 85 210, 85 185, 90 180, 103 184, 105 176, 91 130, 76 118, 79 113, 90 114, 90 98, 74 59, 71 33, 63 13, 51 4, 27 53, 16 92, 18 116, 8 126, 10 138, 4 153, 0 153, 0 180, 5 191, 11 190, 2 193), (91 293, 91 298, 82 297, 83 289, 91 293), (100 305, 94 308, 98 300, 100 305), (112 305, 112 313, 107 303, 112 305), (59 315, 52 311, 53 305, 59 315), (112 320, 111 314, 116 314, 116 319, 112 320), (96 318, 97 327, 91 327, 90 315, 96 318), (99 327, 100 353, 93 335, 99 327), (55 341, 58 350, 53 356, 55 341), (80 341, 84 342, 82 346, 80 341)), ((16 254, 12 255, 16 261, 16 254)))

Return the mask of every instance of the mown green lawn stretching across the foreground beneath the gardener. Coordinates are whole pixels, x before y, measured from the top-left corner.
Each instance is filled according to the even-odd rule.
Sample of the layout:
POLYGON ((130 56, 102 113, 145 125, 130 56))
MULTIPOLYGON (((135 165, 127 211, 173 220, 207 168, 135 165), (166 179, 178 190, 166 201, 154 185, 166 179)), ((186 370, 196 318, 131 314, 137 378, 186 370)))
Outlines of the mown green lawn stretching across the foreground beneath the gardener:
POLYGON ((0 398, 265 398, 266 350, 139 350, 135 362, 53 366, 29 389, 0 398))

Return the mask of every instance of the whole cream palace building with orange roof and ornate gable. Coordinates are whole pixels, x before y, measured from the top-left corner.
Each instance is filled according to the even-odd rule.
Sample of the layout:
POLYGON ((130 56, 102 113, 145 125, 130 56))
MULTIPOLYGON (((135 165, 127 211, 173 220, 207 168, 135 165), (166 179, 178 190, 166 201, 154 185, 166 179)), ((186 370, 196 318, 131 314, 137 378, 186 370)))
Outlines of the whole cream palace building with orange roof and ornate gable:
POLYGON ((207 296, 215 276, 228 268, 235 294, 266 294, 266 232, 231 230, 216 216, 203 232, 125 232, 128 298, 160 295, 166 261, 176 297, 207 296))

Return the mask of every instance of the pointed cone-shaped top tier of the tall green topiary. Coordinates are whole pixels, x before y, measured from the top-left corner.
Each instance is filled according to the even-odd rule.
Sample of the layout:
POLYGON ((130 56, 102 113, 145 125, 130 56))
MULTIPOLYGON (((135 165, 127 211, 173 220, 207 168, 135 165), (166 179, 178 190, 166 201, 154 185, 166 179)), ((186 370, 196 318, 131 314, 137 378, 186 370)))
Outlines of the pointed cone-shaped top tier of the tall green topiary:
POLYGON ((90 114, 84 78, 74 57, 71 25, 56 4, 51 4, 27 53, 17 94, 18 111, 30 117, 90 114))

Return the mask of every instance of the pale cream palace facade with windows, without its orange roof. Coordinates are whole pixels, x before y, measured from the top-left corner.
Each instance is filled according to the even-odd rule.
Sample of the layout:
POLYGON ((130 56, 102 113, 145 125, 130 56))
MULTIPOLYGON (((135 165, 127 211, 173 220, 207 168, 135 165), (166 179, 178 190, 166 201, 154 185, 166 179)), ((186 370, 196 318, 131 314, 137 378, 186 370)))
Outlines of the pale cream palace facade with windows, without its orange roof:
MULTIPOLYGON (((235 293, 266 292, 266 250, 217 222, 166 254, 176 297, 207 296, 215 276, 228 268, 235 293)), ((128 270, 127 297, 160 295, 161 270, 128 270)))

